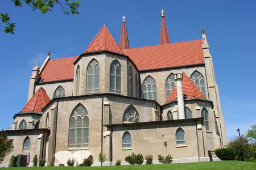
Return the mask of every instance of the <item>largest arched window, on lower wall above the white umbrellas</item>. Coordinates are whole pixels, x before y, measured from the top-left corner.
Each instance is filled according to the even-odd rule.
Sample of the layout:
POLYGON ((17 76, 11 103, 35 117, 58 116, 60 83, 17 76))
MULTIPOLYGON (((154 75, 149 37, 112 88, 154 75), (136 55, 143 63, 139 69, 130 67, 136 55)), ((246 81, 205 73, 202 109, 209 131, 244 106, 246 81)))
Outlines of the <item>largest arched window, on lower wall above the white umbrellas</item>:
POLYGON ((69 119, 69 148, 88 148, 89 117, 79 104, 69 119))

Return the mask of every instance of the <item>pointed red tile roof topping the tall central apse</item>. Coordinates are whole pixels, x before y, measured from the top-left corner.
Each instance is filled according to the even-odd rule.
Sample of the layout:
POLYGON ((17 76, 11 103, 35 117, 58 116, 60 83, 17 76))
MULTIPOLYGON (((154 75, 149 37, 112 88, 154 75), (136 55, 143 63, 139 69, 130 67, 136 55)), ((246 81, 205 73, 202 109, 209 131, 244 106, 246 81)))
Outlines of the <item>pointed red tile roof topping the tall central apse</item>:
POLYGON ((98 32, 93 41, 90 42, 90 45, 84 53, 97 52, 102 50, 123 54, 122 50, 119 48, 117 42, 115 42, 105 25, 101 28, 100 32, 98 32))

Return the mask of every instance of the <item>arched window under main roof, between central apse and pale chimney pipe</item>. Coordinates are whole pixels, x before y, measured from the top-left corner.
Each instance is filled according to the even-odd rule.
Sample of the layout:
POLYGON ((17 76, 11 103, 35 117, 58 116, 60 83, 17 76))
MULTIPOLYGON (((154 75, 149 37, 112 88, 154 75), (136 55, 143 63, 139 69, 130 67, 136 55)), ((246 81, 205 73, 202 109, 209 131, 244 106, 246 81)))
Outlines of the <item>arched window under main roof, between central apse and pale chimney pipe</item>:
POLYGON ((158 100, 156 93, 156 83, 151 76, 147 76, 142 85, 143 98, 148 100, 158 100))

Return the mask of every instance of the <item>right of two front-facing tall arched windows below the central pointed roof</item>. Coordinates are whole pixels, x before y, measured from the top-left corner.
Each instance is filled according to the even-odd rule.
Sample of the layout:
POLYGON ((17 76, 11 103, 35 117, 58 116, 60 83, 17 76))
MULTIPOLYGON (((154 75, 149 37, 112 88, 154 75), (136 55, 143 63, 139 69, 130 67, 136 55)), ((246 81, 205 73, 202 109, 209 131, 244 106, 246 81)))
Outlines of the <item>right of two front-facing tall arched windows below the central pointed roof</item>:
POLYGON ((117 60, 114 60, 110 65, 110 92, 121 94, 122 70, 121 65, 117 60))

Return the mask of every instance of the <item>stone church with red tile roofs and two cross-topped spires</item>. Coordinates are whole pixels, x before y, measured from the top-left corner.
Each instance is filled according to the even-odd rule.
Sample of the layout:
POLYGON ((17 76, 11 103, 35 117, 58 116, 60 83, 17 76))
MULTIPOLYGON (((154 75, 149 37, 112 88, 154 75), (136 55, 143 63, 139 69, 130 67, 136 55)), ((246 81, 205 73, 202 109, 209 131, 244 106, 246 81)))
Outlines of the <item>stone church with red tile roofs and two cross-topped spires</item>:
POLYGON ((161 16, 160 43, 130 48, 125 16, 119 45, 104 25, 80 56, 32 69, 27 104, 14 114, 11 155, 35 155, 46 165, 90 157, 104 165, 134 154, 171 154, 174 163, 218 160, 228 142, 213 60, 202 39, 171 42, 161 16))

